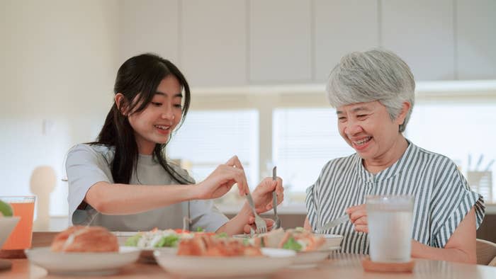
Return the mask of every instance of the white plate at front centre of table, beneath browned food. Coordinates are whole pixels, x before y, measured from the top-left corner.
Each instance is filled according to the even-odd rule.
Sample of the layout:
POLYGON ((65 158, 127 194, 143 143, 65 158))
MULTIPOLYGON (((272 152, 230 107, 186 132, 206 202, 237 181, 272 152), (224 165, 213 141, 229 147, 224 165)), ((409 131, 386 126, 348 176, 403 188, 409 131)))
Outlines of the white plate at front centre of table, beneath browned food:
POLYGON ((183 277, 235 278, 270 275, 290 266, 295 251, 262 248, 264 256, 176 256, 154 251, 154 256, 167 272, 183 277))

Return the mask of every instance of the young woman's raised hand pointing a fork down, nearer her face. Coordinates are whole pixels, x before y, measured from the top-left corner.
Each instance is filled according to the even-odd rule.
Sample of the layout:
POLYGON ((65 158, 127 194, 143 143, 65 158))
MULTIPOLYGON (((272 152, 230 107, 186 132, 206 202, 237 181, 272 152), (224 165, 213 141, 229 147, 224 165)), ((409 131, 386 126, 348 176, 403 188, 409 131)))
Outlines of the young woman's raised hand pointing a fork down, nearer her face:
POLYGON ((195 190, 198 191, 198 199, 220 198, 229 192, 233 185, 237 183, 239 195, 245 195, 248 192, 247 176, 237 158, 232 156, 225 164, 219 165, 204 181, 198 183, 195 190))

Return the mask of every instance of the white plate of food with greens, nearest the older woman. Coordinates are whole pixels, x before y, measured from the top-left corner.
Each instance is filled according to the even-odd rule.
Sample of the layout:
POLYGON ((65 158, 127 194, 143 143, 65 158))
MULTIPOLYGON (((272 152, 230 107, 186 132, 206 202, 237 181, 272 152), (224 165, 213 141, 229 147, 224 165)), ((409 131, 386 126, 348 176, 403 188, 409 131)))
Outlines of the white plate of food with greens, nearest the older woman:
POLYGON ((339 250, 342 236, 313 234, 303 227, 295 229, 274 229, 265 234, 238 234, 235 237, 244 239, 254 246, 288 249, 296 252, 290 268, 312 268, 329 257, 329 253, 339 250))

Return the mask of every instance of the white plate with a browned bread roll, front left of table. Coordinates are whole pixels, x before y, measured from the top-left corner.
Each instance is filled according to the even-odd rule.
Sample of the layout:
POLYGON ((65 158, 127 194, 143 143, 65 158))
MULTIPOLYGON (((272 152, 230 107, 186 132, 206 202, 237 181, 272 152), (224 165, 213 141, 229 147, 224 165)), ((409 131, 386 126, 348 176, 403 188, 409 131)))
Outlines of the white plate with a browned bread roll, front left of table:
POLYGON ((103 227, 69 227, 51 246, 26 249, 29 261, 57 275, 111 275, 133 263, 140 249, 119 246, 103 227))

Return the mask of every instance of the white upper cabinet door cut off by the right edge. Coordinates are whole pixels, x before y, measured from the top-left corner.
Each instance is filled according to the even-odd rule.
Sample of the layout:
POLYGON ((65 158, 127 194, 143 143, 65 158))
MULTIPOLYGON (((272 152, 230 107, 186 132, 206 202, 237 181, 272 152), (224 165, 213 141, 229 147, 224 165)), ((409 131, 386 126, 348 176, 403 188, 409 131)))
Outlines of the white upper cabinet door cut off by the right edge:
POLYGON ((456 32, 458 79, 496 79, 496 1, 457 1, 456 32))

